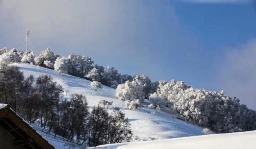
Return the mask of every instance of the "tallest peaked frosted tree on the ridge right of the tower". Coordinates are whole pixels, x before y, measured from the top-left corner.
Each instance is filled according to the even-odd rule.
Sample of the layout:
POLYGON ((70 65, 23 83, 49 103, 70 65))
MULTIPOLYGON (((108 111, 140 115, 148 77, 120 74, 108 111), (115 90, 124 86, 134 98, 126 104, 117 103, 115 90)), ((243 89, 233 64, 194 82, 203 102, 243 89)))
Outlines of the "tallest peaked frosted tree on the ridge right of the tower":
POLYGON ((38 66, 53 69, 53 64, 57 57, 57 55, 47 48, 45 51, 42 51, 38 57, 34 58, 34 62, 38 66))

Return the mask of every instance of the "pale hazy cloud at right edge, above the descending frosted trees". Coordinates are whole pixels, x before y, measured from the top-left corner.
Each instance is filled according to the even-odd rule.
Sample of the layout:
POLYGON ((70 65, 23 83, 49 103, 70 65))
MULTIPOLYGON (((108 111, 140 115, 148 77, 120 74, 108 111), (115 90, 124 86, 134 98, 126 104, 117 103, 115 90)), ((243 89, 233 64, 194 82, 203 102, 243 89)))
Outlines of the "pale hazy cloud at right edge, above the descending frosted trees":
POLYGON ((219 84, 228 95, 256 110, 256 39, 230 50, 220 67, 219 84))

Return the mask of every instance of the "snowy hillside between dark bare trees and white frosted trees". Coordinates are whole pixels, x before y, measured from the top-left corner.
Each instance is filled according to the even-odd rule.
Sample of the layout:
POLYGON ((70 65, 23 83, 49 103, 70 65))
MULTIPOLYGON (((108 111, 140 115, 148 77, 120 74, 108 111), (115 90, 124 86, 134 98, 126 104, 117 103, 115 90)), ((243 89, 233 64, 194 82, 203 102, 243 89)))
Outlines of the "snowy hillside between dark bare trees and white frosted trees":
MULTIPOLYGON (((123 107, 124 101, 118 100, 114 94, 115 89, 104 86, 102 89, 94 91, 90 87, 90 81, 68 74, 59 74, 56 71, 38 67, 26 63, 12 64, 20 68, 25 76, 30 74, 40 76, 42 74, 51 75, 55 81, 64 87, 64 98, 69 98, 73 93, 86 96, 88 106, 92 108, 97 99, 113 101, 116 106, 123 107)), ((172 118, 168 112, 155 112, 147 108, 140 108, 136 111, 122 109, 129 118, 129 122, 134 134, 134 141, 169 139, 174 137, 187 137, 202 135, 202 127, 187 124, 184 121, 172 118)))

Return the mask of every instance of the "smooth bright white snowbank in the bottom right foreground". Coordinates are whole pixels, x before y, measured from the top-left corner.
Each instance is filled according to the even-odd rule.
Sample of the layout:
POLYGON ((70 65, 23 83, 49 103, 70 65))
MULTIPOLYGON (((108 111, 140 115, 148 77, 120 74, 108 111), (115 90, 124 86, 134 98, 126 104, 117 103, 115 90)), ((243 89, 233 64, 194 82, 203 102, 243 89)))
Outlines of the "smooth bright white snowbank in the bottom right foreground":
POLYGON ((256 131, 100 145, 98 149, 256 149, 256 131))

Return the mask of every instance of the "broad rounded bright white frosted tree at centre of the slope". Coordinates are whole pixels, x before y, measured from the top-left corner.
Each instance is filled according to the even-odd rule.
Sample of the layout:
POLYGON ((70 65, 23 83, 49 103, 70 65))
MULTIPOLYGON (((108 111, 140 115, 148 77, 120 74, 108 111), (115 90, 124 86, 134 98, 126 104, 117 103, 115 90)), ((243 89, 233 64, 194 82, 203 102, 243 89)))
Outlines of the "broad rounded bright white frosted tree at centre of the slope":
POLYGON ((120 100, 144 100, 143 85, 136 81, 126 81, 116 88, 116 97, 120 100))

